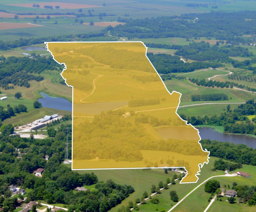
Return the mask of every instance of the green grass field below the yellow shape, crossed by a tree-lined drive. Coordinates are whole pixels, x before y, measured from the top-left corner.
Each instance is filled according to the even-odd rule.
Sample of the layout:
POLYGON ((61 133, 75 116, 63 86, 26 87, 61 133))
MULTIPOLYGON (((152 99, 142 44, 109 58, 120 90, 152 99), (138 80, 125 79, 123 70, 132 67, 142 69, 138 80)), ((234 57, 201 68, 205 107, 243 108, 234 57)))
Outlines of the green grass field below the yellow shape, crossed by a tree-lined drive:
MULTIPOLYGON (((152 211, 152 207, 158 209, 170 209, 171 204, 174 204, 169 198, 169 191, 176 190, 179 198, 185 196, 190 190, 192 190, 196 185, 198 185, 203 180, 207 179, 213 175, 221 175, 223 171, 211 171, 213 168, 214 160, 217 158, 211 157, 210 162, 205 164, 202 168, 201 175, 199 176, 199 180, 197 183, 190 184, 177 184, 171 185, 169 189, 163 190, 161 194, 156 195, 160 199, 160 204, 154 205, 150 202, 147 202, 144 205, 140 206, 140 211, 152 211)), ((70 165, 68 165, 70 166, 70 165)), ((128 198, 126 198, 120 205, 117 205, 115 208, 110 210, 111 212, 116 212, 120 206, 127 205, 130 200, 133 202, 136 198, 140 198, 144 191, 147 191, 150 194, 151 185, 158 185, 159 181, 165 181, 167 177, 172 178, 173 171, 168 171, 168 174, 164 173, 162 169, 126 169, 126 170, 78 170, 78 173, 91 173, 94 172, 100 181, 106 181, 108 179, 112 179, 116 183, 119 184, 129 184, 132 185, 135 189, 135 192, 131 194, 128 198)))

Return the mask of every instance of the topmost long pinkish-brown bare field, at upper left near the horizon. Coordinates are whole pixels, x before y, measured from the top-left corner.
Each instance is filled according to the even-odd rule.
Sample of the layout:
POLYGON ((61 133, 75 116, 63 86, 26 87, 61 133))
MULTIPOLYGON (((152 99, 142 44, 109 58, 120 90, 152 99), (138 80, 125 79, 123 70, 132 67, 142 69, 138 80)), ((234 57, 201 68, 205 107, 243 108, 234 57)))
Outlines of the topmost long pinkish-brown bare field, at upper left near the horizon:
POLYGON ((8 4, 11 6, 18 7, 33 7, 33 4, 39 4, 40 8, 44 9, 44 6, 60 6, 61 9, 79 9, 79 8, 90 8, 90 7, 102 7, 98 5, 81 4, 81 3, 63 3, 63 2, 40 2, 40 3, 18 3, 18 4, 8 4))

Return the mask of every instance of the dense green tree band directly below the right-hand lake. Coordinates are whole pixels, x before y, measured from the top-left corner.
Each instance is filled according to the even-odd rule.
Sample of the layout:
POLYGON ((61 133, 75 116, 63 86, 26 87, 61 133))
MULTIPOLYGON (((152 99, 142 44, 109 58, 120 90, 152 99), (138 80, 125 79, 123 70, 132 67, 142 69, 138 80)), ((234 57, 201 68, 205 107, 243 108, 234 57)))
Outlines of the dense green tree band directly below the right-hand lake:
POLYGON ((230 160, 238 164, 256 166, 256 149, 252 149, 245 144, 210 141, 209 139, 203 139, 200 143, 203 149, 206 148, 210 151, 210 156, 230 160))

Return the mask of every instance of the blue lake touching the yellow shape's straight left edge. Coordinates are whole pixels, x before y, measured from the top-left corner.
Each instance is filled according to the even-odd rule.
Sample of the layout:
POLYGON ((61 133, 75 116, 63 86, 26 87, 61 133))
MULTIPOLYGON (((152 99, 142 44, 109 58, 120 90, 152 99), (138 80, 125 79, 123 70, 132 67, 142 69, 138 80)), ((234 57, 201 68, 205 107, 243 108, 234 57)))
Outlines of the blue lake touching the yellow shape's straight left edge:
POLYGON ((40 94, 43 96, 43 98, 38 99, 38 101, 41 102, 43 107, 72 111, 72 103, 67 101, 67 99, 60 97, 50 97, 43 92, 40 92, 40 94))

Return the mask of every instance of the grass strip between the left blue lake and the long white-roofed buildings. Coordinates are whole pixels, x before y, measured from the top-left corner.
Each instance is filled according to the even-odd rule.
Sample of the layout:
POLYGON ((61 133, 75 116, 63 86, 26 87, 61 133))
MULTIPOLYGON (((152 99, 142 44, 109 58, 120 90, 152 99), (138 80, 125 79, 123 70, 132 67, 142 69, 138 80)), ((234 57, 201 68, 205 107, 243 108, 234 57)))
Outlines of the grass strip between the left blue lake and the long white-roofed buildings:
POLYGON ((25 124, 35 121, 39 118, 42 118, 45 115, 53 115, 55 113, 57 113, 58 115, 70 115, 71 114, 70 111, 57 110, 57 109, 53 109, 53 108, 39 108, 39 109, 34 109, 28 113, 21 113, 12 118, 7 118, 4 120, 3 124, 4 125, 12 124, 14 126, 25 125, 25 124))

